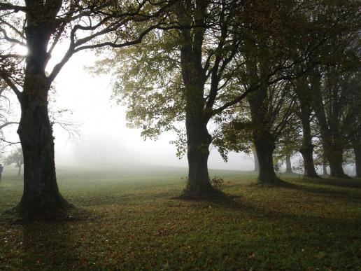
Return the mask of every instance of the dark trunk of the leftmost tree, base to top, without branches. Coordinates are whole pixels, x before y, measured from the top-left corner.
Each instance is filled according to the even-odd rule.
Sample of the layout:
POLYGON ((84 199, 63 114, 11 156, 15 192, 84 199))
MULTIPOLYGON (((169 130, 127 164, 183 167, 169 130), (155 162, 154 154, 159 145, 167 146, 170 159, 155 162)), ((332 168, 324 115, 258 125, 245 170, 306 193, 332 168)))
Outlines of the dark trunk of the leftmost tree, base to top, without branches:
POLYGON ((52 215, 69 207, 57 186, 54 137, 48 116, 50 85, 45 75, 47 47, 62 1, 40 3, 27 1, 28 55, 19 97, 22 114, 17 130, 24 155, 24 192, 17 209, 22 214, 35 216, 52 215))

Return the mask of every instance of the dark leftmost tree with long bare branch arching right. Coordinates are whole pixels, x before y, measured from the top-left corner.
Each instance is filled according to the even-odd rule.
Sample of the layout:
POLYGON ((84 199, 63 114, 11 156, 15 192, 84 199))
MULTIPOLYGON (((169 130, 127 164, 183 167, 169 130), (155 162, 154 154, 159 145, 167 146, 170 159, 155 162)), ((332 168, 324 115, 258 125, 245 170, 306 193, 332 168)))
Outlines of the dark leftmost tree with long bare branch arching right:
POLYGON ((0 2, 0 78, 13 90, 22 114, 17 130, 24 153, 24 193, 20 214, 52 214, 71 204, 59 193, 55 174, 54 139, 48 116, 52 82, 80 50, 140 43, 164 21, 169 1, 25 0, 0 2), (148 12, 149 11, 149 12, 148 12), (143 28, 141 22, 150 21, 143 28), (117 32, 120 36, 112 36, 117 32), (58 43, 68 48, 59 63, 48 67, 58 43), (21 55, 16 46, 27 48, 21 55), (8 49, 3 49, 8 48, 8 49), (50 72, 45 70, 50 69, 50 72))

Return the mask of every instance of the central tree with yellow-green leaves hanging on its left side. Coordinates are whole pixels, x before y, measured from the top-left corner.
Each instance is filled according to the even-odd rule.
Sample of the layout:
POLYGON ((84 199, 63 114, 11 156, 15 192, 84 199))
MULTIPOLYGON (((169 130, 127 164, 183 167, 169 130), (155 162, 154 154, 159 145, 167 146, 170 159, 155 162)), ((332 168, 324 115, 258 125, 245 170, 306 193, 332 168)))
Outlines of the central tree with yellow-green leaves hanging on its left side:
MULTIPOLYGON (((136 49, 135 61, 117 71, 125 84, 115 85, 115 94, 127 101, 129 122, 142 127, 144 137, 156 138, 164 130, 176 130, 180 142, 187 144, 185 195, 189 197, 214 192, 208 176, 212 137, 207 124, 251 91, 227 95, 239 46, 231 31, 239 4, 179 1, 173 16, 180 29, 147 36, 145 46, 136 49), (222 95, 227 99, 220 99, 222 95), (185 122, 185 130, 176 127, 177 121, 185 122)), ((129 54, 134 57, 133 51, 129 54)), ((183 144, 178 146, 184 149, 183 144)))

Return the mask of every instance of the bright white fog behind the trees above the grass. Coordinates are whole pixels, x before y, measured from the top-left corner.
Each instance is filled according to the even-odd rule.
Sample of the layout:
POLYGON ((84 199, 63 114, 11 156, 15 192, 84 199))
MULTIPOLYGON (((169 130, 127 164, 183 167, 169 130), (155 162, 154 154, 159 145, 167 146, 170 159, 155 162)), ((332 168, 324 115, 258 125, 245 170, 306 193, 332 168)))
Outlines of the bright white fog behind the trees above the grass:
MULTIPOLYGON (((62 49, 62 48, 61 48, 62 49)), ((64 48, 63 48, 64 49, 64 48)), ((62 54, 53 54, 50 66, 62 54)), ((74 55, 57 76, 55 109, 69 109, 70 119, 77 123, 79 135, 54 126, 55 162, 61 167, 122 167, 124 165, 165 165, 187 167, 186 158, 176 157, 176 147, 169 141, 176 139, 171 132, 162 134, 157 141, 141 138, 141 130, 126 126, 125 107, 111 101, 111 76, 90 74, 85 67, 94 64, 92 52, 74 55)), ((18 106, 15 111, 19 112, 18 106)), ((16 128, 8 130, 7 139, 18 141, 16 128)), ((10 151, 10 148, 6 148, 10 151)), ((208 160, 211 169, 252 170, 253 158, 245 153, 230 153, 226 163, 215 148, 208 160)))

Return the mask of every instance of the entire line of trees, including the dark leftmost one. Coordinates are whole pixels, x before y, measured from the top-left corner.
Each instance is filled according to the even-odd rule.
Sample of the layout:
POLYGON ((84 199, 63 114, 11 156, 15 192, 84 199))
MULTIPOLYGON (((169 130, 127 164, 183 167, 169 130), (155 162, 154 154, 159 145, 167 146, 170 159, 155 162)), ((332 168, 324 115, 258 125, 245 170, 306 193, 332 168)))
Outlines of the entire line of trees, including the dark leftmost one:
MULTIPOLYGON (((0 2, 0 77, 22 110, 24 193, 17 209, 47 214, 70 207, 57 187, 48 93, 70 57, 85 49, 102 55, 111 48, 98 67, 115 71, 114 97, 127 104, 129 123, 142 127, 144 137, 178 133, 178 153, 187 153, 189 165, 187 196, 214 192, 207 167, 212 142, 226 157, 227 151, 248 150, 252 141, 259 181, 277 183, 273 152, 292 134, 299 137, 299 122, 305 172, 316 174, 313 115, 332 175, 344 176, 330 122, 351 105, 343 100, 341 110, 330 103, 344 92, 341 82, 358 78, 359 15, 358 1, 351 0, 0 2), (58 43, 68 48, 49 67, 58 43), (27 55, 17 53, 18 46, 26 46, 27 55), (210 123, 218 127, 213 136, 210 123)), ((359 85, 351 85, 357 96, 359 85)), ((356 119, 350 127, 358 128, 348 135, 359 141, 356 119)))

